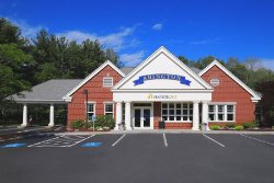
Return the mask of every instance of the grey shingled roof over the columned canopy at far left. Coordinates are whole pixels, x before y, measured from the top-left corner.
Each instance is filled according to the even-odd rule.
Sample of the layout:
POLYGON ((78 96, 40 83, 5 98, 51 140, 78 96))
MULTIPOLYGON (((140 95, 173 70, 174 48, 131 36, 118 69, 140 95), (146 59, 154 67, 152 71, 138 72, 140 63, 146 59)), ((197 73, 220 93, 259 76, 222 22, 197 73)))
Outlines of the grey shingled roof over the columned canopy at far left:
POLYGON ((20 94, 8 96, 18 103, 65 103, 62 96, 76 87, 81 79, 52 79, 23 91, 20 94))

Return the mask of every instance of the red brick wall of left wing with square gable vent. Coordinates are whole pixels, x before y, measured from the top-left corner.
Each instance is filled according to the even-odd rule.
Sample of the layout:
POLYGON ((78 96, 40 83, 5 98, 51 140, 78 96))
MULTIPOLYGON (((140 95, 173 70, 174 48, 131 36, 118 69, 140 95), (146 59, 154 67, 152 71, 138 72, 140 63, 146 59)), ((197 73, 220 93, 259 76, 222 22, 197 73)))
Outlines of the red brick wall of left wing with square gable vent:
MULTIPOLYGON (((85 95, 83 90, 88 89, 89 101, 94 101, 95 103, 95 114, 104 114, 104 102, 113 101, 113 93, 111 88, 103 88, 103 78, 113 77, 113 83, 116 84, 121 79, 121 75, 117 73, 112 67, 106 66, 96 76, 89 80, 84 85, 82 85, 72 95, 71 103, 68 104, 68 125, 75 119, 85 119, 85 95)), ((115 105, 114 105, 115 114, 115 105)))

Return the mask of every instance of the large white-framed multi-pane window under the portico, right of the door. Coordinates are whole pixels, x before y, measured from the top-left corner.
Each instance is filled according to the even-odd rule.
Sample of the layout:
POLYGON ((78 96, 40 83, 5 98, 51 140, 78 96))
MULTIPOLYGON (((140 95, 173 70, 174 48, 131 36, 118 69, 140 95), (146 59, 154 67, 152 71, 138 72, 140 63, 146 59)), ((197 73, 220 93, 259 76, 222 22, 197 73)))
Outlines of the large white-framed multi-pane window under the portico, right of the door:
POLYGON ((193 119, 193 104, 162 103, 162 119, 168 122, 189 122, 193 119))

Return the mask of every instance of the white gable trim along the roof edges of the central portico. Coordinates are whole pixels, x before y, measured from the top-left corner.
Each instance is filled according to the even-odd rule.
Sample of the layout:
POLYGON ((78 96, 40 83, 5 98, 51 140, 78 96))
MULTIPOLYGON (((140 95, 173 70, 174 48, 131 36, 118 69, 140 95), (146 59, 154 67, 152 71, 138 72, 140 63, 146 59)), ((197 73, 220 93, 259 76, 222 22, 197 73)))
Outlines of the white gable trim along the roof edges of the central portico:
POLYGON ((195 73, 192 69, 190 69, 186 65, 184 65, 181 60, 179 60, 174 55, 172 55, 165 47, 161 46, 153 54, 151 54, 146 60, 144 60, 139 66, 134 68, 124 79, 122 79, 117 84, 113 87, 113 91, 119 90, 122 85, 124 85, 132 77, 138 73, 142 68, 149 65, 155 58, 157 58, 160 54, 164 54, 172 61, 174 61, 178 66, 183 68, 189 75, 191 75, 196 81, 198 81, 206 90, 213 90, 213 88, 204 81, 197 73, 195 73))

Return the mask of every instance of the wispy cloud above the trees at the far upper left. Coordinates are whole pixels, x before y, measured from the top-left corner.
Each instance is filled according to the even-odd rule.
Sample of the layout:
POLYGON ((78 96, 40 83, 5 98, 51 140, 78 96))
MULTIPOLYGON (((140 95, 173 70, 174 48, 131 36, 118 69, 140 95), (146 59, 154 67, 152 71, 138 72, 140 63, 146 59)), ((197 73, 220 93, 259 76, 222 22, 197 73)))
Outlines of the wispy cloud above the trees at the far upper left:
POLYGON ((26 23, 26 21, 24 20, 15 20, 12 18, 5 18, 8 19, 11 23, 18 25, 21 31, 22 31, 22 35, 25 37, 35 37, 36 34, 45 28, 47 30, 47 27, 43 26, 43 25, 30 25, 28 23, 26 23))

